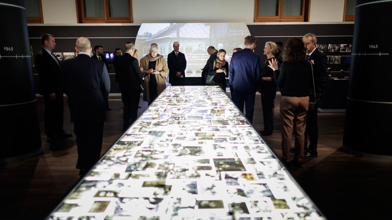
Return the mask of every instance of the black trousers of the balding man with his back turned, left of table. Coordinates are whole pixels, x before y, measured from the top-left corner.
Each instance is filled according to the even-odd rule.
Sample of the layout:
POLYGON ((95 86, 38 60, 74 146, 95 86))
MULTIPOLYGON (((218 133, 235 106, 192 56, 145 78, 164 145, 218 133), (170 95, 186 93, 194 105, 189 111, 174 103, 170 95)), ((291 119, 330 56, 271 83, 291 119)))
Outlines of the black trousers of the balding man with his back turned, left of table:
POLYGON ((78 162, 76 169, 90 169, 100 158, 103 122, 74 122, 78 162))

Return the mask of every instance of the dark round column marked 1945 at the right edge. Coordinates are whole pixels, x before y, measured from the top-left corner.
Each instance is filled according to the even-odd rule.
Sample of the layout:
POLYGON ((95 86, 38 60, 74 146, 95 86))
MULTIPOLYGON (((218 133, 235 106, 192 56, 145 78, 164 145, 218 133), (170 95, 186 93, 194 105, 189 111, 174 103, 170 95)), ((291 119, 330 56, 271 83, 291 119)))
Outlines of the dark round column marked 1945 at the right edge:
POLYGON ((392 2, 358 0, 343 148, 392 156, 392 2))

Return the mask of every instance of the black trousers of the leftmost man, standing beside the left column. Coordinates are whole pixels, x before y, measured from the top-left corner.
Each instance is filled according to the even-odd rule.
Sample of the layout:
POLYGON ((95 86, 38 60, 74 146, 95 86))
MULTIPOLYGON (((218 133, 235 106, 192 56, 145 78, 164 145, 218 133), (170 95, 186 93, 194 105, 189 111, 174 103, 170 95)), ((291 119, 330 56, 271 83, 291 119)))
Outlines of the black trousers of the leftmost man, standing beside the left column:
POLYGON ((45 111, 45 135, 53 137, 56 134, 64 133, 64 97, 63 93, 56 93, 55 99, 50 99, 49 95, 44 95, 45 111))

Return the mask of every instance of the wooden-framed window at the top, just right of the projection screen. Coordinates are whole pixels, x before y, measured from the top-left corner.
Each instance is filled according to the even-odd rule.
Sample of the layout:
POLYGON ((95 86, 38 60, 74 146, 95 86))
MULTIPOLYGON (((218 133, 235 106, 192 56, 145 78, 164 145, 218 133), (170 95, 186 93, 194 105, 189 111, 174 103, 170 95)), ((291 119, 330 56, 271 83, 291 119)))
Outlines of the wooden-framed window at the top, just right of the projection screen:
POLYGON ((254 22, 307 22, 310 0, 255 0, 254 22))

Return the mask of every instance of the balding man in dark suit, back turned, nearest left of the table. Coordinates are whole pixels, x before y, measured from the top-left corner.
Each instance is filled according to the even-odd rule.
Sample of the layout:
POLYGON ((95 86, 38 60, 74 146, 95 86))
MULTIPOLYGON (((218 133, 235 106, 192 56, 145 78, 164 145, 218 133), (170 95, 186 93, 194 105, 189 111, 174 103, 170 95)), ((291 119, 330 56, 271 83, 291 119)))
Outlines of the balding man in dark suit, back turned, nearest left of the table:
POLYGON ((105 64, 90 58, 89 39, 78 38, 75 50, 78 56, 63 62, 62 73, 78 146, 76 168, 83 175, 100 158, 110 80, 105 64))

